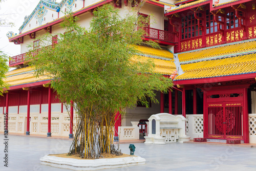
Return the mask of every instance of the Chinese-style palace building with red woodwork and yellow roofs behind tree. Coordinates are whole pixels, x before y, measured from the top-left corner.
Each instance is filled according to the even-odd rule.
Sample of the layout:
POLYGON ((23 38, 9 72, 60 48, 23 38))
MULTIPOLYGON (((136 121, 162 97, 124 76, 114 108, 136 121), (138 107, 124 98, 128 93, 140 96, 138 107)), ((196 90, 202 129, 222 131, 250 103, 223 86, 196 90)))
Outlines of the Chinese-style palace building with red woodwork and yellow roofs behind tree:
MULTIPOLYGON (((72 10, 80 18, 78 23, 89 28, 92 11, 105 3, 120 8, 121 14, 133 6, 127 0, 41 0, 25 18, 19 34, 9 34, 9 41, 21 48, 20 55, 11 57, 9 66, 16 69, 7 73, 5 81, 10 88, 0 97, 0 112, 8 113, 10 133, 72 137, 76 127, 72 108, 70 117, 74 122, 47 87, 51 79, 34 77, 24 56, 28 44, 40 48, 37 36, 63 32, 59 27, 63 11, 72 10)), ((162 49, 137 46, 142 59, 152 58, 156 73, 170 76, 175 69, 182 69, 184 74, 175 77, 168 94, 157 92, 159 104, 145 108, 138 103, 136 108, 126 109, 122 118, 117 114, 115 127, 126 127, 127 138, 133 134, 132 129, 129 131, 132 124, 142 124, 143 133, 151 115, 169 113, 186 118, 190 139, 256 143, 255 5, 256 1, 251 0, 145 1, 139 14, 154 14, 156 24, 150 16, 147 34, 142 38, 157 41, 162 49)))

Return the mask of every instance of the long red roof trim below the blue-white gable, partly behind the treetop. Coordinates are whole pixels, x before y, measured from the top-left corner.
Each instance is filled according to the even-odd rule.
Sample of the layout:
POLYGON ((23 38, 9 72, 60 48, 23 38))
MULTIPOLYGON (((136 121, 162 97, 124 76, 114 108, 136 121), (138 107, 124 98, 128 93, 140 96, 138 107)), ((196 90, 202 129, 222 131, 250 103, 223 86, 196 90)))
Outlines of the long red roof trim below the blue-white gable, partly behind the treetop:
MULTIPOLYGON (((80 14, 82 14, 82 13, 84 13, 84 12, 87 12, 88 10, 91 10, 91 9, 93 9, 93 8, 96 8, 96 7, 99 7, 99 6, 103 5, 103 4, 107 4, 107 3, 111 2, 111 1, 113 1, 113 0, 106 0, 106 1, 103 1, 103 2, 101 2, 101 3, 99 3, 99 4, 96 4, 96 5, 94 5, 94 6, 81 9, 80 11, 77 11, 76 13, 74 13, 73 16, 80 15, 80 14)), ((28 35, 28 34, 30 34, 30 33, 33 33, 33 32, 39 31, 39 30, 41 30, 41 29, 44 29, 44 28, 46 28, 46 27, 53 26, 53 25, 56 25, 56 24, 58 24, 58 23, 61 23, 61 22, 63 21, 63 18, 64 18, 64 17, 58 18, 57 20, 55 20, 55 21, 52 22, 52 23, 43 25, 43 26, 38 27, 38 28, 36 28, 36 29, 34 29, 34 30, 31 30, 31 31, 28 31, 28 32, 19 34, 19 35, 15 36, 15 37, 10 38, 9 41, 11 42, 11 41, 13 41, 13 40, 15 40, 15 39, 17 39, 17 38, 19 38, 19 37, 23 37, 23 36, 26 36, 26 35, 28 35)))

